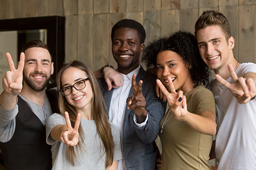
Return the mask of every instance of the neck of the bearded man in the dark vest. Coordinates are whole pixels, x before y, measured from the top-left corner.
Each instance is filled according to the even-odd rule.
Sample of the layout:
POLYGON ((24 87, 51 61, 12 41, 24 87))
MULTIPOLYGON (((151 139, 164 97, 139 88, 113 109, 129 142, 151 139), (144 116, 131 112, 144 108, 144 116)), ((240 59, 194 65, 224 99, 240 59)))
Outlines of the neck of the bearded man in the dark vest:
POLYGON ((45 100, 45 89, 42 91, 35 91, 28 86, 23 86, 20 94, 26 99, 33 101, 34 103, 43 107, 45 100))

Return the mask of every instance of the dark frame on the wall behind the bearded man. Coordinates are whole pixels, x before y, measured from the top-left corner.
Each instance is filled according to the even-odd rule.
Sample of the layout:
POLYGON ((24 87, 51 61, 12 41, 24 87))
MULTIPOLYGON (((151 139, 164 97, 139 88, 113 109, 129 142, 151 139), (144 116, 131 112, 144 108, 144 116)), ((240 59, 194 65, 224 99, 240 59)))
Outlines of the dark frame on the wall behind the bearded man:
POLYGON ((54 63, 54 73, 47 88, 52 88, 56 86, 56 75, 65 62, 65 17, 44 16, 0 20, 0 31, 35 29, 47 29, 47 45, 50 48, 52 62, 54 63))

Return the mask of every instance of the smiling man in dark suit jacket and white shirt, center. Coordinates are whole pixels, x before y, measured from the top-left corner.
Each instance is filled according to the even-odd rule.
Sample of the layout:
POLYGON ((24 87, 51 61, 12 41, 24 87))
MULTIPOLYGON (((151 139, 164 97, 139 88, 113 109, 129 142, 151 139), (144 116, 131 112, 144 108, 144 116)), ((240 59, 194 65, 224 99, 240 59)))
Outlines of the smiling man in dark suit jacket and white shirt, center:
POLYGON ((137 21, 117 22, 111 31, 112 53, 124 85, 114 89, 111 80, 98 79, 109 120, 121 133, 124 158, 119 160, 118 170, 156 168, 158 148, 155 139, 165 107, 156 95, 156 76, 147 73, 139 64, 145 38, 145 29, 137 21))

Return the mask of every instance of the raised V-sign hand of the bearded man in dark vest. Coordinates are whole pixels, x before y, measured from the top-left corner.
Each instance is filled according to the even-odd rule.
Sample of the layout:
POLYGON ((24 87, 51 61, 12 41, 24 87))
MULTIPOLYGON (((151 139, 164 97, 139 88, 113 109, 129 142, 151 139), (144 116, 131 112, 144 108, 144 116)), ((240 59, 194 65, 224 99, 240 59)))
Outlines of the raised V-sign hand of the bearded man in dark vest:
POLYGON ((20 62, 17 70, 14 67, 10 53, 6 53, 6 58, 10 67, 10 71, 7 71, 3 77, 3 89, 6 94, 17 96, 22 90, 25 54, 20 54, 20 62))

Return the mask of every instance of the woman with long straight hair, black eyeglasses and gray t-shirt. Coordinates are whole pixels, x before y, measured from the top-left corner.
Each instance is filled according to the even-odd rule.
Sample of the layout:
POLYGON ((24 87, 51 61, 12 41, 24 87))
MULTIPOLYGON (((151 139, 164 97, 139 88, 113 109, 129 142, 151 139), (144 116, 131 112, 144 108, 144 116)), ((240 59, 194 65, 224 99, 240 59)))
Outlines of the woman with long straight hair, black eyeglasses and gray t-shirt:
POLYGON ((122 159, 119 131, 108 121, 97 79, 79 61, 57 75, 59 113, 46 123, 52 169, 117 169, 122 159))

